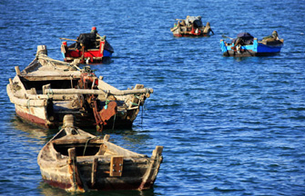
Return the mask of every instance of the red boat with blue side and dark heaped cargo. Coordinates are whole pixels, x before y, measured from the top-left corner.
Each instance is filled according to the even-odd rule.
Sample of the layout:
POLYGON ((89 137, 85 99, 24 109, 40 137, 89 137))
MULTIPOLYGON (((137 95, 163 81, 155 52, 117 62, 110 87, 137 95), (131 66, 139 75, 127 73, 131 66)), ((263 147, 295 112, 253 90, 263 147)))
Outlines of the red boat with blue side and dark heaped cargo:
POLYGON ((80 34, 76 40, 61 38, 63 40, 75 41, 67 45, 66 41, 61 44, 61 53, 65 62, 75 60, 84 64, 106 63, 114 53, 113 47, 107 42, 106 36, 97 34, 97 28, 93 27, 90 34, 80 34))

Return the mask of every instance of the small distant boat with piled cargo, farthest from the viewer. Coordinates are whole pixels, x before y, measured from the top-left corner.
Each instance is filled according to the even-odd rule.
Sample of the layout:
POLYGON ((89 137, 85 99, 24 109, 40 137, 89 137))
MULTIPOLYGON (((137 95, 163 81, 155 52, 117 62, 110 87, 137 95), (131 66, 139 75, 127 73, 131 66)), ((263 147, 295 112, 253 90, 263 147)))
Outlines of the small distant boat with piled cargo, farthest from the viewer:
POLYGON ((208 36, 214 34, 209 23, 202 25, 201 16, 187 16, 186 19, 176 19, 178 22, 170 31, 174 36, 208 36))

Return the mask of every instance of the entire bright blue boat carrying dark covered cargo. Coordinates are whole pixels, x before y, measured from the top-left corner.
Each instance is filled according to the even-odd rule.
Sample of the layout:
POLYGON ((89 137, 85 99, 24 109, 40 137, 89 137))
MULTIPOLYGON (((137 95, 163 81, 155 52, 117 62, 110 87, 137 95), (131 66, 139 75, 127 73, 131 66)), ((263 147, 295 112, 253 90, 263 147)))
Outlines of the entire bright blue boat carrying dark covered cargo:
MULTIPOLYGON (((231 38, 232 39, 232 38, 231 38)), ((221 51, 224 56, 264 56, 279 54, 284 44, 283 39, 279 39, 278 35, 258 41, 249 33, 238 34, 237 39, 227 43, 223 39, 220 40, 221 51)))

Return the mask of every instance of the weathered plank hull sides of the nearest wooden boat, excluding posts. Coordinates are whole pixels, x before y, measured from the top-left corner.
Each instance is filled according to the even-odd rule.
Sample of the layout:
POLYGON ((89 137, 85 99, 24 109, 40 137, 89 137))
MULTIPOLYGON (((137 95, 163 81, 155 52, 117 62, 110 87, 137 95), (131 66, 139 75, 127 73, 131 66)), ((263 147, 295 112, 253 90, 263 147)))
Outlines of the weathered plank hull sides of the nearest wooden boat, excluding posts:
MULTIPOLYGON (((92 157, 92 160, 94 158, 92 157)), ((144 185, 143 176, 147 172, 148 165, 147 160, 143 162, 132 163, 127 159, 124 161, 123 174, 120 177, 109 176, 109 161, 99 161, 97 164, 97 179, 93 185, 91 182, 92 162, 80 163, 77 162, 77 170, 82 181, 82 187, 86 187, 85 190, 96 191, 111 191, 111 190, 147 190, 151 189, 154 181, 146 181, 144 185), (142 186, 142 187, 141 187, 142 186)), ((67 161, 66 161, 67 162, 67 161)), ((56 164, 56 163, 55 163, 56 164)), ((41 168, 41 175, 46 183, 67 191, 74 189, 74 183, 71 181, 70 172, 68 166, 62 166, 60 170, 58 168, 41 168)))

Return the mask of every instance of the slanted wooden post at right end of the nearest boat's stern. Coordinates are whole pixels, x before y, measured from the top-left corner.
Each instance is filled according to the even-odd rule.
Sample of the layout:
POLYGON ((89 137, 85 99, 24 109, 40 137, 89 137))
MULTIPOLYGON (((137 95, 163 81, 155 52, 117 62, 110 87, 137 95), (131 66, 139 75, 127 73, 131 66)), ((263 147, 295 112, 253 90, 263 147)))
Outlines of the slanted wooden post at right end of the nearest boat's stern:
POLYGON ((143 190, 144 188, 150 188, 156 181, 158 170, 163 160, 163 157, 161 155, 162 152, 163 146, 156 146, 156 149, 153 151, 152 156, 150 158, 150 165, 147 168, 147 172, 144 174, 142 183, 138 188, 139 190, 143 190))

